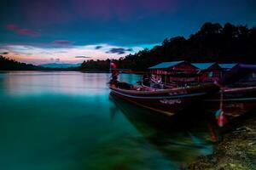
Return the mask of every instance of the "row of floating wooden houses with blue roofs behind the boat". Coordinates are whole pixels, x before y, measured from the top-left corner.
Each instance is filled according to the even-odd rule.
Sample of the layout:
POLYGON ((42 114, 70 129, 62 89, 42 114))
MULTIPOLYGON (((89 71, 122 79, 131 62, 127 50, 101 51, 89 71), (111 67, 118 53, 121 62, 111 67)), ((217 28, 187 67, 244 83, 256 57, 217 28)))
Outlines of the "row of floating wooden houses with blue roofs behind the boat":
MULTIPOLYGON (((148 68, 158 82, 214 82, 237 64, 163 62, 148 68)), ((256 76, 256 75, 255 75, 256 76)))

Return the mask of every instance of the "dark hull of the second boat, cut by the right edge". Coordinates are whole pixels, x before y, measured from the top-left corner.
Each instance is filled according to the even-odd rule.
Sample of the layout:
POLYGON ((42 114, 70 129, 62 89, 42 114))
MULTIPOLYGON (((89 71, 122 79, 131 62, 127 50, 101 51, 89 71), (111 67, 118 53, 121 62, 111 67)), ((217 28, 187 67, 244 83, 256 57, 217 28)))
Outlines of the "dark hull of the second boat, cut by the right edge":
MULTIPOLYGON (((215 113, 220 105, 220 92, 204 100, 205 109, 215 113)), ((256 109, 256 87, 230 88, 224 90, 223 111, 229 119, 256 109)))

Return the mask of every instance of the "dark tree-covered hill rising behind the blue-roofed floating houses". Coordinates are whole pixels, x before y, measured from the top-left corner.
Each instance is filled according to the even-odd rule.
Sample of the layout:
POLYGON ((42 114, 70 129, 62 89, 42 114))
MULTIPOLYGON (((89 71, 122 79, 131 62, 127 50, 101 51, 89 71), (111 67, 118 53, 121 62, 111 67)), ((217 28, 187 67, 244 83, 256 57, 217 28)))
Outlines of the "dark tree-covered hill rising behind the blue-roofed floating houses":
MULTIPOLYGON (((166 38, 160 46, 145 48, 137 54, 115 60, 119 68, 144 71, 164 61, 226 62, 256 64, 256 27, 230 23, 205 23, 189 38, 166 38)), ((108 71, 109 59, 84 61, 83 71, 108 71)))

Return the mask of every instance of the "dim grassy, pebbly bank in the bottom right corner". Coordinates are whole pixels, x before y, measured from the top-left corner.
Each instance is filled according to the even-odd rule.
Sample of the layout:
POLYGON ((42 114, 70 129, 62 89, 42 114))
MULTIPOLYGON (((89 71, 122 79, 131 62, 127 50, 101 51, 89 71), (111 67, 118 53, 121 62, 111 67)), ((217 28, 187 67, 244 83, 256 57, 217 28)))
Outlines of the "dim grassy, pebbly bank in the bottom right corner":
MULTIPOLYGON (((187 169, 254 169, 256 167, 256 111, 236 122, 230 122, 229 130, 209 156, 199 156, 187 169)), ((225 129, 226 130, 226 129, 225 129)))

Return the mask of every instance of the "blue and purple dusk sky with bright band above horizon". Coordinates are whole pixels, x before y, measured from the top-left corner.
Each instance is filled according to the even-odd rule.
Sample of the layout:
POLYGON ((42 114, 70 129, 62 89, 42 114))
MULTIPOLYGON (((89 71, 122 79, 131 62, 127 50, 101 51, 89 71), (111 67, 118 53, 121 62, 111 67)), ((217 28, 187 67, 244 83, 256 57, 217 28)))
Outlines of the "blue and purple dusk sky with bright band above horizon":
POLYGON ((34 65, 119 59, 205 22, 256 26, 255 0, 1 0, 0 54, 34 65))

